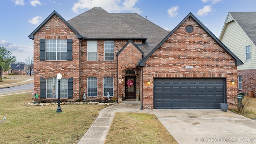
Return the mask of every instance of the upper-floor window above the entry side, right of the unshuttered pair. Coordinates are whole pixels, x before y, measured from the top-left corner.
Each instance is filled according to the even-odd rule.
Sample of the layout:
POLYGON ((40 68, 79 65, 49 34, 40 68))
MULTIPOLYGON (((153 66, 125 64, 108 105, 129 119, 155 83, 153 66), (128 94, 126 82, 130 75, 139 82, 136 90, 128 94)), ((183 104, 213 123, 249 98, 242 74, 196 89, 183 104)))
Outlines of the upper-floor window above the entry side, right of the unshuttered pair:
POLYGON ((114 61, 115 60, 114 52, 115 52, 114 40, 105 40, 104 41, 104 60, 105 61, 114 61), (106 56, 108 54, 111 54, 112 56, 106 56), (109 58, 113 59, 113 60, 109 60, 109 58))

